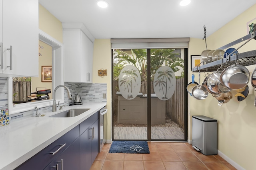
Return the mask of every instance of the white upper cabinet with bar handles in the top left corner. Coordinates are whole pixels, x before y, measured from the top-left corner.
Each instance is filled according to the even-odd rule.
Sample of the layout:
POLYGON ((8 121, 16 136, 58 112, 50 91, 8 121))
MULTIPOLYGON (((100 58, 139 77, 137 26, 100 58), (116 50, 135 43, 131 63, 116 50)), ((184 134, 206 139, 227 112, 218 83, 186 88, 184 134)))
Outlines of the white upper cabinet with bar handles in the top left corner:
POLYGON ((0 76, 38 76, 38 0, 0 0, 0 9, 0 76))

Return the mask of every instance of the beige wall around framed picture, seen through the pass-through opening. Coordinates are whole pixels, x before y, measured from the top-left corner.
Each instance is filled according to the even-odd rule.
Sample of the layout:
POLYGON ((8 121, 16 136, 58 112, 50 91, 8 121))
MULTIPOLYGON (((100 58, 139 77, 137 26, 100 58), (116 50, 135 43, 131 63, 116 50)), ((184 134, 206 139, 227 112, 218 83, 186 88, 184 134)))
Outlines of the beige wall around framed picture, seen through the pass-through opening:
MULTIPOLYGON (((31 91, 35 92, 37 90, 43 90, 43 88, 52 90, 52 82, 42 82, 42 66, 52 66, 52 47, 42 41, 39 41, 40 46, 43 46, 44 49, 40 49, 42 56, 39 56, 39 77, 31 78, 31 91)), ((52 90, 53 93, 53 90, 52 90)), ((52 93, 49 94, 50 99, 52 99, 52 93)))

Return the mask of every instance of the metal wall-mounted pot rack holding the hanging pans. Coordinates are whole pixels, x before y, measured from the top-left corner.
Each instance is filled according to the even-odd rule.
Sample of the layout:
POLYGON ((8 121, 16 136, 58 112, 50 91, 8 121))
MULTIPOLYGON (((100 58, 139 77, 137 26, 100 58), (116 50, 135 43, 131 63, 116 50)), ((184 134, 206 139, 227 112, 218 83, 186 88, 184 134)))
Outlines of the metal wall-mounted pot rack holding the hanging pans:
MULTIPOLYGON (((250 33, 240 39, 237 39, 231 43, 228 43, 227 45, 224 45, 218 49, 224 50, 233 45, 236 45, 238 43, 246 41, 240 47, 238 47, 236 50, 234 50, 234 51, 237 51, 242 46, 244 46, 246 43, 248 43, 250 40, 252 40, 252 39, 256 40, 255 33, 256 33, 256 31, 254 29, 254 31, 252 33, 250 33)), ((192 68, 192 72, 211 72, 211 71, 216 71, 221 66, 226 68, 226 67, 228 67, 230 65, 234 65, 234 64, 240 64, 243 66, 249 66, 249 65, 256 64, 256 50, 247 51, 244 53, 238 53, 235 55, 231 55, 232 53, 230 53, 230 55, 228 55, 226 58, 223 58, 223 59, 211 62, 211 63, 207 63, 202 66, 196 66, 196 67, 192 68)))

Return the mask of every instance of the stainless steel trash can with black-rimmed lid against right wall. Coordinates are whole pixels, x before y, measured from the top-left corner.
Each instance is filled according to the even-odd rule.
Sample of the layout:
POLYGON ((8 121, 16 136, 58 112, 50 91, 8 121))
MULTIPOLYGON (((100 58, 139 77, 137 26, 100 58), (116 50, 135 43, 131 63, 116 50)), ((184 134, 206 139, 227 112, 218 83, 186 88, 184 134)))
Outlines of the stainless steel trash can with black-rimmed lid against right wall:
POLYGON ((203 115, 192 116, 192 147, 205 155, 217 153, 217 120, 203 115))

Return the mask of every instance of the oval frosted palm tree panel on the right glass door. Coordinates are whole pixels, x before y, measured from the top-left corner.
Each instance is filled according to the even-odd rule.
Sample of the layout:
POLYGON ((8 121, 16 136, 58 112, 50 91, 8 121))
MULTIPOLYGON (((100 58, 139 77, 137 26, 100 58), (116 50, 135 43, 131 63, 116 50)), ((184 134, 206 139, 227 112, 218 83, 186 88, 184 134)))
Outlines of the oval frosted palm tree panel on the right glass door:
POLYGON ((154 76, 154 92, 160 100, 168 100, 176 89, 176 78, 172 68, 161 66, 154 76))

